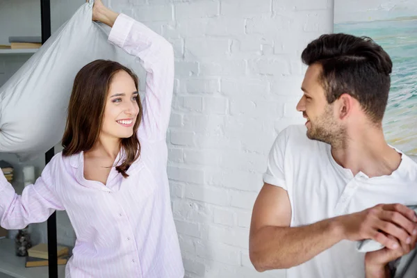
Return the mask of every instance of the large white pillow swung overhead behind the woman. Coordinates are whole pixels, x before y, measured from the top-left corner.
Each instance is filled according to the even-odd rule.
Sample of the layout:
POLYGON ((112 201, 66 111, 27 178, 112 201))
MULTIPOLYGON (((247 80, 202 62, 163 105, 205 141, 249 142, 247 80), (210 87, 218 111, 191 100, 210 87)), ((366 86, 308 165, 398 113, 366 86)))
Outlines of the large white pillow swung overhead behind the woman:
POLYGON ((0 152, 26 161, 60 142, 75 75, 92 60, 141 70, 136 57, 107 41, 110 28, 92 22, 92 5, 83 4, 0 88, 0 152))

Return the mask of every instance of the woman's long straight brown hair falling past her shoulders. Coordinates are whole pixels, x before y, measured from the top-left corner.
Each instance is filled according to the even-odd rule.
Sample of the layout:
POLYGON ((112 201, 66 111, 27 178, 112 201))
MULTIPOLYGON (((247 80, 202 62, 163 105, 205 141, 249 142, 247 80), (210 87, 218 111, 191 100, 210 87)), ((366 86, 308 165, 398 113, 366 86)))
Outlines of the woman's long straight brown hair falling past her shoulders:
MULTIPOLYGON (((99 140, 108 90, 113 76, 120 70, 132 77, 136 90, 139 90, 138 76, 124 65, 111 60, 95 60, 76 74, 62 140, 63 156, 86 152, 99 140)), ((124 161, 116 166, 116 170, 125 178, 129 177, 126 171, 130 165, 140 156, 140 142, 136 136, 142 120, 142 104, 139 97, 137 102, 139 113, 133 126, 133 136, 122 138, 120 147, 126 156, 124 161)))

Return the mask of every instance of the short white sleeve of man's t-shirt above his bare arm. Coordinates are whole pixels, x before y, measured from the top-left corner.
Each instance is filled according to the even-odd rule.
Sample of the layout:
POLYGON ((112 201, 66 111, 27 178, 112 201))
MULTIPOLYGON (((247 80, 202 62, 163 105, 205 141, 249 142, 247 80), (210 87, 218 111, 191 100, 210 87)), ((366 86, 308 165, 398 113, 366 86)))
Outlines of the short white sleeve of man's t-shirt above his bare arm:
POLYGON ((285 190, 288 190, 284 172, 285 152, 288 141, 287 133, 288 128, 281 131, 275 139, 268 156, 266 172, 263 174, 265 183, 279 186, 285 190))

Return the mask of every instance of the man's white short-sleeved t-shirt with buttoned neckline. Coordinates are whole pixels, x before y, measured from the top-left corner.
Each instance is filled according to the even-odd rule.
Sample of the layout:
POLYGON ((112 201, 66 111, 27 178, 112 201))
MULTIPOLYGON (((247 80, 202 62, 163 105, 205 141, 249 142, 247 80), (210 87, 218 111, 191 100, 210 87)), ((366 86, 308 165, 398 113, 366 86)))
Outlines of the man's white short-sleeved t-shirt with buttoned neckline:
MULTIPOLYGON (((398 151, 399 152, 399 151, 398 151)), ((417 204, 417 163, 402 154, 389 176, 369 178, 338 165, 331 146, 310 140, 306 127, 288 126, 279 133, 263 181, 284 188, 291 202, 291 227, 363 211, 376 204, 417 204)), ((364 254, 356 242, 342 240, 310 261, 286 270, 288 278, 365 277, 364 254)))

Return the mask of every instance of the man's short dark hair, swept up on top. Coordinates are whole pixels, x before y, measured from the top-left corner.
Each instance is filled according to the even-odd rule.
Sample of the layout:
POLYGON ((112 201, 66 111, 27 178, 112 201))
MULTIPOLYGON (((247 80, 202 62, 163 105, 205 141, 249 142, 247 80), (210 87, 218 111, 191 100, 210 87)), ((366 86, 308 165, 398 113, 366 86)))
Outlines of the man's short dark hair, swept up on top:
POLYGON ((301 58, 306 65, 322 65, 320 82, 329 104, 347 93, 359 101, 372 122, 382 121, 393 63, 372 39, 343 33, 321 35, 307 45, 301 58))

